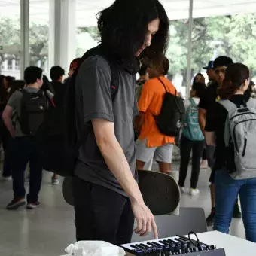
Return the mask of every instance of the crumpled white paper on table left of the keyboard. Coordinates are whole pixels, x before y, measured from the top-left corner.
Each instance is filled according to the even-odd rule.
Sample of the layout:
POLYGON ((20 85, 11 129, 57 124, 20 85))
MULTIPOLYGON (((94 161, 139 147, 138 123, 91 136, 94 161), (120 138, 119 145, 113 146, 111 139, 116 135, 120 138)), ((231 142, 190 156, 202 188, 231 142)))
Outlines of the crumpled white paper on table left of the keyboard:
POLYGON ((65 251, 72 256, 124 256, 123 248, 103 241, 80 241, 69 245, 65 251))

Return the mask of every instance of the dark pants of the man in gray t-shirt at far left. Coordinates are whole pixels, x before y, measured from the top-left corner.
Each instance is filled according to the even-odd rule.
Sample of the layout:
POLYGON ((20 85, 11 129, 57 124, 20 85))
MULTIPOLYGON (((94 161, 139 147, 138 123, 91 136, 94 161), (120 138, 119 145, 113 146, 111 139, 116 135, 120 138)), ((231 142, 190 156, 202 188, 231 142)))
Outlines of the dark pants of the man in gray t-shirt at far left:
POLYGON ((41 189, 42 163, 41 151, 38 142, 33 137, 17 137, 14 139, 12 151, 12 176, 14 197, 25 197, 24 172, 26 165, 30 165, 28 203, 38 201, 38 194, 41 189))

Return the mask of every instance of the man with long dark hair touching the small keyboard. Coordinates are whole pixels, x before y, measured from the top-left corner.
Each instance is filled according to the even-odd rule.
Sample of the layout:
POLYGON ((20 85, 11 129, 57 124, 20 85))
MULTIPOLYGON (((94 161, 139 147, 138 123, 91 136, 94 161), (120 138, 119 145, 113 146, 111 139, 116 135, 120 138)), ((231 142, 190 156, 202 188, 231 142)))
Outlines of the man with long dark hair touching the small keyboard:
POLYGON ((73 179, 77 239, 130 242, 134 218, 136 233, 146 236, 152 227, 157 238, 136 182, 135 75, 141 58, 154 62, 165 53, 169 19, 158 0, 117 0, 99 13, 98 28, 102 48, 117 65, 119 85, 112 100, 111 69, 102 56, 89 57, 79 68, 77 119, 92 123, 93 132, 81 147, 73 179))

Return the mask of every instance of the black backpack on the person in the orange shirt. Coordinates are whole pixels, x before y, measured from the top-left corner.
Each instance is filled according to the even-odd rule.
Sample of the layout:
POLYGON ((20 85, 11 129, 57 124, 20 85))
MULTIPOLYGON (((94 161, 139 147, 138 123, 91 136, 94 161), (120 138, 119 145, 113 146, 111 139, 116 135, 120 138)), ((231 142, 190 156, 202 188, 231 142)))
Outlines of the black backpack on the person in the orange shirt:
MULTIPOLYGON (((161 84, 160 78, 157 78, 161 84)), ((160 114, 155 117, 157 128, 160 133, 167 136, 176 137, 179 136, 181 130, 181 124, 184 117, 184 102, 181 97, 178 96, 177 90, 175 89, 175 95, 169 93, 166 86, 163 84, 166 93, 164 95, 162 108, 160 114)))

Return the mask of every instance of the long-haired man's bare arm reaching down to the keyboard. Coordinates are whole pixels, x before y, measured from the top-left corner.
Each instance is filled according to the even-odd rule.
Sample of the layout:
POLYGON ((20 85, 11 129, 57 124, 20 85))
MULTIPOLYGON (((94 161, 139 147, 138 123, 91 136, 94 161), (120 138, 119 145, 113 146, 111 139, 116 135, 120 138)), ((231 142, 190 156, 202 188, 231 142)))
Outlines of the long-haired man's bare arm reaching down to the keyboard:
POLYGON ((92 123, 96 142, 105 159, 105 163, 130 198, 133 214, 137 221, 137 227, 134 231, 141 236, 146 236, 151 232, 152 227, 154 236, 157 238, 157 226, 154 216, 144 203, 139 186, 133 178, 123 149, 116 139, 114 123, 102 119, 92 120, 92 123))

